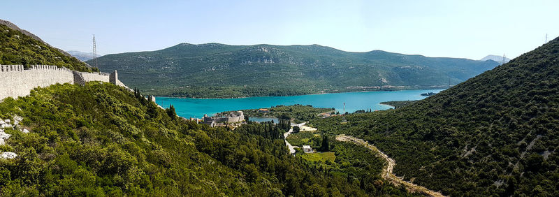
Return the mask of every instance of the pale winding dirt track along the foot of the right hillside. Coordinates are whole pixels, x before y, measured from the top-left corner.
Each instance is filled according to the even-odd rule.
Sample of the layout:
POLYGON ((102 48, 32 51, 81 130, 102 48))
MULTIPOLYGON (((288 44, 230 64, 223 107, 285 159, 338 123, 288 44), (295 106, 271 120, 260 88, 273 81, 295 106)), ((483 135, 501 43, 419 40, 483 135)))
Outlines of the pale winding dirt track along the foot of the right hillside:
POLYGON ((394 160, 391 159, 388 155, 381 152, 379 149, 377 149, 377 147, 375 147, 373 145, 370 145, 369 143, 365 142, 365 140, 361 140, 359 138, 355 138, 355 137, 352 137, 352 136, 346 136, 344 134, 336 136, 336 140, 342 141, 342 142, 356 143, 358 145, 363 145, 363 146, 367 147, 368 149, 371 149, 373 152, 376 152, 382 158, 384 158, 386 160, 386 162, 389 163, 389 165, 386 166, 386 168, 382 169, 381 176, 385 180, 388 180, 389 182, 392 182, 392 184, 395 184, 396 186, 398 186, 400 184, 404 184, 406 189, 410 192, 419 192, 421 194, 426 194, 426 195, 429 195, 429 196, 443 196, 440 192, 432 191, 432 190, 427 189, 426 187, 422 187, 422 186, 413 184, 411 182, 407 182, 407 181, 403 180, 402 178, 397 177, 396 175, 394 175, 394 173, 393 173, 393 168, 395 166, 394 160))

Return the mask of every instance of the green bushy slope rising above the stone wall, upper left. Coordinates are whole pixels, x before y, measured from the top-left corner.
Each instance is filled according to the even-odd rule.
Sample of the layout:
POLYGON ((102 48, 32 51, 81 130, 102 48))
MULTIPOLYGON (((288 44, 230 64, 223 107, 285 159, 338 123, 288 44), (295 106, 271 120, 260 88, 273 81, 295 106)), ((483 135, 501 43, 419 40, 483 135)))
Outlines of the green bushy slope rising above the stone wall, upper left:
POLYGON ((74 71, 97 71, 83 61, 3 24, 0 24, 0 64, 20 64, 26 68, 42 64, 66 67, 74 71))

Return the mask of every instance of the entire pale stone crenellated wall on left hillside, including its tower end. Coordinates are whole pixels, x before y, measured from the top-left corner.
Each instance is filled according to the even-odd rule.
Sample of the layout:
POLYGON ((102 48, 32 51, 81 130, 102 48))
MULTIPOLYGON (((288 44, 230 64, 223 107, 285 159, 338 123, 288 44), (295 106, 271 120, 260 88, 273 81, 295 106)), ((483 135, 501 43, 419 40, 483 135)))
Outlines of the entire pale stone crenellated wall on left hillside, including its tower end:
POLYGON ((113 74, 78 72, 50 65, 31 65, 29 68, 24 68, 23 65, 0 65, 0 100, 27 96, 31 89, 57 83, 85 85, 85 82, 101 81, 126 87, 118 80, 116 71, 113 74))

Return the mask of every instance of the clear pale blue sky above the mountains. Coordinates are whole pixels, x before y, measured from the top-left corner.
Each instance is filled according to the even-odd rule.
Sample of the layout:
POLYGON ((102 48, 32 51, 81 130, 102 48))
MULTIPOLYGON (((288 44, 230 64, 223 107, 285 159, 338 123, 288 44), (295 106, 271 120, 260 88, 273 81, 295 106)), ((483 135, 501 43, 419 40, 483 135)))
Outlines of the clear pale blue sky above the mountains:
POLYGON ((481 59, 559 36, 559 1, 22 1, 0 18, 63 50, 100 54, 178 43, 326 45, 481 59))

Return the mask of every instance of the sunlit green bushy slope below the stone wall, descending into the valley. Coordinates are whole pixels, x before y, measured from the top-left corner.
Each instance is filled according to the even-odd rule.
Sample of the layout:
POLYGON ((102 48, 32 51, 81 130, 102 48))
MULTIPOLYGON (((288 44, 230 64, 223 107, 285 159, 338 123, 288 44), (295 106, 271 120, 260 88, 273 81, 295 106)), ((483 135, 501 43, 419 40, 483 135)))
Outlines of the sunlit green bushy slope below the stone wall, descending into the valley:
MULTIPOLYGON (((4 99, 0 118, 13 115, 31 133, 6 129, 12 136, 1 150, 19 155, 0 159, 0 196, 406 194, 378 176, 356 176, 351 165, 326 170, 290 156, 282 124, 210 128, 109 83, 4 99)), ((368 162, 359 165, 379 168, 368 162)))

